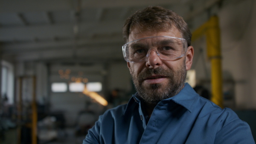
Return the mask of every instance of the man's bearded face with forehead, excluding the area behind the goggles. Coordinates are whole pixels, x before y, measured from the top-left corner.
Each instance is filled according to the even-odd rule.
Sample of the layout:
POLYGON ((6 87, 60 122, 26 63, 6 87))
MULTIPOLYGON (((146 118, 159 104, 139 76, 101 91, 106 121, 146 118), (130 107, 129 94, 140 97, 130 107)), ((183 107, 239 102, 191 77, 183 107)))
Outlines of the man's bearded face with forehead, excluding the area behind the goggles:
MULTIPOLYGON (((182 38, 175 27, 169 31, 160 32, 134 29, 129 35, 129 41, 151 36, 182 38)), ((186 70, 191 67, 192 57, 193 48, 189 46, 186 55, 176 60, 161 60, 156 52, 151 51, 147 60, 127 63, 140 97, 145 102, 157 104, 159 101, 170 98, 180 92, 184 87, 186 70)))

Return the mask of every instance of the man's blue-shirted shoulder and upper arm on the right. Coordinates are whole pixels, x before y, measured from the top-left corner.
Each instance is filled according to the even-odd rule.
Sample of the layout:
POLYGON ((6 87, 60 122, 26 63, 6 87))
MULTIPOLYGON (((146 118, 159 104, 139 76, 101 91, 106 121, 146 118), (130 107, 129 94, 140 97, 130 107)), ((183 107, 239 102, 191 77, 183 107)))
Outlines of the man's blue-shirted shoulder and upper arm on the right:
POLYGON ((221 109, 212 101, 202 97, 198 97, 196 103, 199 103, 198 108, 193 110, 198 114, 197 124, 200 127, 208 127, 215 133, 216 144, 251 144, 253 138, 250 126, 232 109, 221 109))

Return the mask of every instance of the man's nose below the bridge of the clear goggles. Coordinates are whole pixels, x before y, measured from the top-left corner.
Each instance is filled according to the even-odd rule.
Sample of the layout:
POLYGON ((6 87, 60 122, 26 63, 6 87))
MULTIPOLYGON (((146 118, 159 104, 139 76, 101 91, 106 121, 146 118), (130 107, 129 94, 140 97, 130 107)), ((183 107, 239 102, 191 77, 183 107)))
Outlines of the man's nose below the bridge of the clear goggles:
POLYGON ((156 68, 157 66, 161 66, 162 60, 159 58, 159 53, 155 50, 151 50, 147 54, 146 66, 150 69, 156 68))

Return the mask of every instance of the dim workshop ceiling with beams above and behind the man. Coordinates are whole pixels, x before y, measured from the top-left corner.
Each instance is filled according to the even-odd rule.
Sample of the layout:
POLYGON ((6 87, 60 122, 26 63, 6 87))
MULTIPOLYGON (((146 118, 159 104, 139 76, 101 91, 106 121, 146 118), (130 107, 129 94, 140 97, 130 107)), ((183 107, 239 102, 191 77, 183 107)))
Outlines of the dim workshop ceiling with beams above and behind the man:
POLYGON ((122 26, 146 6, 163 6, 186 22, 220 0, 1 0, 2 58, 15 61, 123 60, 122 26))

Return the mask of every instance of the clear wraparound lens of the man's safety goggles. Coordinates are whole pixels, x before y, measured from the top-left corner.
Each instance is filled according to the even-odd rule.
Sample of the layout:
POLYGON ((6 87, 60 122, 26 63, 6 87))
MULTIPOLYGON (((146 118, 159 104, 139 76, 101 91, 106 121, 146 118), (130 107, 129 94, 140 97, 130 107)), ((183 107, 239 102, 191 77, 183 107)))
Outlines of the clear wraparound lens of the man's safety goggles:
POLYGON ((154 51, 162 60, 175 60, 186 54, 187 42, 183 38, 155 36, 145 37, 125 43, 122 46, 127 62, 141 62, 154 51))

